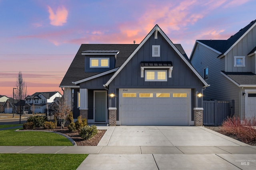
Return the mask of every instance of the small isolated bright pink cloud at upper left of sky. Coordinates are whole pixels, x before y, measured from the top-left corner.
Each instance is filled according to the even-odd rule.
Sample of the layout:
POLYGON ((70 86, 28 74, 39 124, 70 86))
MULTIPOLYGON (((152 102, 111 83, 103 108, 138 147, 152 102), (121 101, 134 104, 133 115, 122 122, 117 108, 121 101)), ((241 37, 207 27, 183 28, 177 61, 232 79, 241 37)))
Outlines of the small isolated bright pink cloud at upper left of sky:
POLYGON ((59 7, 56 13, 53 12, 52 8, 48 6, 48 12, 50 13, 49 19, 51 24, 54 26, 62 26, 67 22, 68 10, 64 6, 59 7))

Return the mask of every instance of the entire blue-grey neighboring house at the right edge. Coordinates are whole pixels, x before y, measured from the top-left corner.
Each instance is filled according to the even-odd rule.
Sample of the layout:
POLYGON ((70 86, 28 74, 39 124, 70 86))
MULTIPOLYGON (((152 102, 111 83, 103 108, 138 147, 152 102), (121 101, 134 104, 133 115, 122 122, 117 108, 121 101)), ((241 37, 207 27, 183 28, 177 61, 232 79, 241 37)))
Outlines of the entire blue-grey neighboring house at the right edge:
POLYGON ((204 100, 234 100, 235 115, 256 116, 256 20, 227 40, 196 40, 190 61, 211 84, 204 100))

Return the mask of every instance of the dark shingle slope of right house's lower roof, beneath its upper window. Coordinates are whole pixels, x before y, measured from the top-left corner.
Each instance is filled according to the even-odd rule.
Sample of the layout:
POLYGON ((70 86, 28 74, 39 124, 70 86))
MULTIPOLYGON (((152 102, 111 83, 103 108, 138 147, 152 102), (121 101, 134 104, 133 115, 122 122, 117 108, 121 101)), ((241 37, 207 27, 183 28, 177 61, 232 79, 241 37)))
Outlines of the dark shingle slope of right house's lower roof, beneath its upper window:
POLYGON ((240 85, 256 85, 256 74, 252 72, 222 72, 240 85))

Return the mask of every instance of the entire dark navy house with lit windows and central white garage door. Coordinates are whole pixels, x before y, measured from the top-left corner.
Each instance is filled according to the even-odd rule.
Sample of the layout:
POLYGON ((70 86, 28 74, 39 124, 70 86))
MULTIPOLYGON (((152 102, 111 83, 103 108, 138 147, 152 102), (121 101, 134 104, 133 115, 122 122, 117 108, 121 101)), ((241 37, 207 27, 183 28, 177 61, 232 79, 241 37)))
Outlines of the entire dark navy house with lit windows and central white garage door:
POLYGON ((60 83, 74 118, 109 125, 194 125, 207 86, 158 25, 139 45, 82 44, 60 83))

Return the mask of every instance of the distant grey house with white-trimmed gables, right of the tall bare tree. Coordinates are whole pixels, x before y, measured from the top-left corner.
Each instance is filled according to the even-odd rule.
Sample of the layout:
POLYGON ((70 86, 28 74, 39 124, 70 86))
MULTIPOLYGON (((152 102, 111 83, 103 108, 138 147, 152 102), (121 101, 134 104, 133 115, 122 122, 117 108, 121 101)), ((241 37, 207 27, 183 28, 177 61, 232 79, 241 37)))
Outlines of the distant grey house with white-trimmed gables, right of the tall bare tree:
POLYGON ((25 109, 30 109, 34 113, 45 113, 48 104, 54 102, 56 97, 62 97, 59 92, 36 92, 25 98, 25 109))

